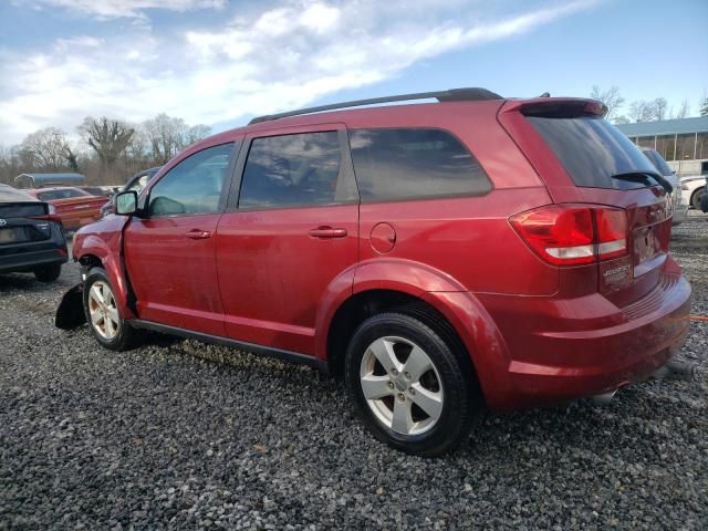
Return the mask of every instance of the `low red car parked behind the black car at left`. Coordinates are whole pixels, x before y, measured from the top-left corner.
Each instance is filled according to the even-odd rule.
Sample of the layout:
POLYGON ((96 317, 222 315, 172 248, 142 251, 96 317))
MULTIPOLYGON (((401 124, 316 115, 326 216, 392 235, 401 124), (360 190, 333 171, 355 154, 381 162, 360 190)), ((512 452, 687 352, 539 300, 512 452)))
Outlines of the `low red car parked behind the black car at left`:
POLYGON ((92 196, 71 186, 34 188, 27 192, 53 205, 65 230, 75 230, 93 223, 98 219, 101 207, 106 200, 105 196, 92 196))

